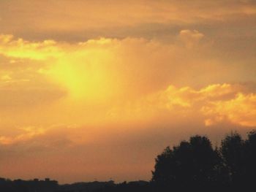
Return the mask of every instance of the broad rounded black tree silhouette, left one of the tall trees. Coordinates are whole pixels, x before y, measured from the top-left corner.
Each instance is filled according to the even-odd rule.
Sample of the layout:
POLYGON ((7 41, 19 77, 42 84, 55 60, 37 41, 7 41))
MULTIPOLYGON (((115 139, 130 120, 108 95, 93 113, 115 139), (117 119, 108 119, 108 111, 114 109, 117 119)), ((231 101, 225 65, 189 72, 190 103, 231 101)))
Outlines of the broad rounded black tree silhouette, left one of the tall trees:
POLYGON ((203 188, 214 183, 219 153, 207 137, 195 136, 189 142, 167 147, 157 156, 152 182, 162 188, 203 188))

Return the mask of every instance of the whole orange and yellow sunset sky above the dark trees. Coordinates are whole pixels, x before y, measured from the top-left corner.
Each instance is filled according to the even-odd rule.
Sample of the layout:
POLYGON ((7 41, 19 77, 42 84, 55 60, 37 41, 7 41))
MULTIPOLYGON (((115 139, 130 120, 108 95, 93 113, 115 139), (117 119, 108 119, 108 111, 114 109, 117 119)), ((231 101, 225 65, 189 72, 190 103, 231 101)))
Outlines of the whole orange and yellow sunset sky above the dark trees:
POLYGON ((256 1, 1 0, 0 176, 150 180, 256 128, 256 1))

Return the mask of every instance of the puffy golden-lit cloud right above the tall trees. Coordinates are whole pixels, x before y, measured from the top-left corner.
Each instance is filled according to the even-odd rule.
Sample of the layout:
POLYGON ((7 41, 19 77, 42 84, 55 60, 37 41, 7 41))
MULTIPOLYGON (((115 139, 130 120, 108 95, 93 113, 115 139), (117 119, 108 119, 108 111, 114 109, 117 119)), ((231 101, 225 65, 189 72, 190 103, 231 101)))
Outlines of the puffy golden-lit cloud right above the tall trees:
POLYGON ((243 89, 241 86, 230 84, 208 85, 199 91, 169 87, 164 95, 168 109, 174 105, 193 107, 194 112, 203 112, 206 117, 211 117, 205 120, 206 126, 227 120, 240 126, 255 127, 256 95, 242 93, 243 89))

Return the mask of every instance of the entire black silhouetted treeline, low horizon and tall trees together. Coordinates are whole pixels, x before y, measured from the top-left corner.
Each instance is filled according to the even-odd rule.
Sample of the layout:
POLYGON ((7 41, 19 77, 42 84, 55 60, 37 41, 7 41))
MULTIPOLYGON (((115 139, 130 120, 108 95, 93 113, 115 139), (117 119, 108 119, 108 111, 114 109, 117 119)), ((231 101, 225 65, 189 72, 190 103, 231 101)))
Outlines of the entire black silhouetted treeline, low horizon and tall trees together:
POLYGON ((59 185, 54 180, 0 179, 3 192, 256 191, 256 131, 242 139, 232 133, 213 147, 196 135, 157 156, 150 182, 59 185))

